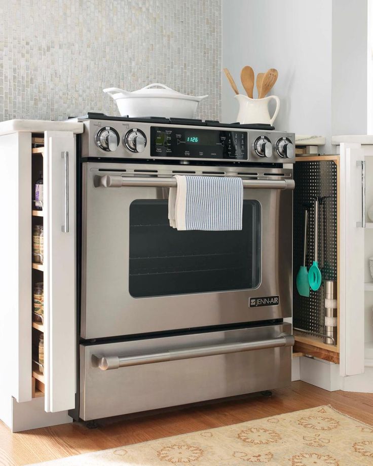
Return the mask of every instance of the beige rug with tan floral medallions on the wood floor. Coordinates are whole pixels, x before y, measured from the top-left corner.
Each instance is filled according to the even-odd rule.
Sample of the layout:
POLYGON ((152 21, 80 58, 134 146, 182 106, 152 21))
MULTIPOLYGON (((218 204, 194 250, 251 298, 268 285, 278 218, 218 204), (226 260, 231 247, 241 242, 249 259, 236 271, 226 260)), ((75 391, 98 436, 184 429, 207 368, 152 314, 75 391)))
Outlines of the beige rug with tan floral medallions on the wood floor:
POLYGON ((319 406, 41 464, 372 466, 373 426, 319 406))

